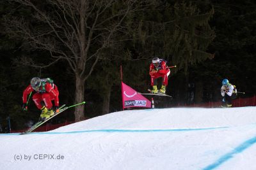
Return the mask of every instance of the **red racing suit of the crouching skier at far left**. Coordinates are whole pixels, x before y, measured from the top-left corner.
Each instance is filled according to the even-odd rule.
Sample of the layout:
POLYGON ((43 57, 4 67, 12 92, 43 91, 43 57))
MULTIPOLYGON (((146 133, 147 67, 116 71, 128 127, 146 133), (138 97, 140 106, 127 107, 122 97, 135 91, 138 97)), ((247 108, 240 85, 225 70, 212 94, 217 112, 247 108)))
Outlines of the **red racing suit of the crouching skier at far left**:
MULTIPOLYGON (((22 96, 23 103, 27 103, 27 96, 31 92, 33 92, 34 89, 29 85, 24 91, 22 96)), ((35 90, 36 91, 36 90, 35 90)), ((52 108, 52 101, 54 101, 54 106, 59 106, 59 91, 58 87, 54 85, 53 83, 45 83, 44 86, 41 86, 38 91, 33 95, 32 97, 34 103, 36 104, 36 107, 38 109, 42 109, 42 101, 44 101, 45 107, 49 110, 52 108)))

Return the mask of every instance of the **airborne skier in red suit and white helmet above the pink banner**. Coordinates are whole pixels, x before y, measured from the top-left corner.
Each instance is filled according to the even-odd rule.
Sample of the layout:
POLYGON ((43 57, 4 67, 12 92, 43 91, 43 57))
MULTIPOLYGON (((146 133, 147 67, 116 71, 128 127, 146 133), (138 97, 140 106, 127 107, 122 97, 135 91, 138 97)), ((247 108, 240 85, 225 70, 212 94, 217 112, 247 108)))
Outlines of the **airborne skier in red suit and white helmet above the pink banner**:
POLYGON ((149 68, 152 93, 160 92, 165 94, 166 86, 168 85, 168 76, 170 74, 170 69, 166 66, 166 62, 163 59, 155 57, 152 59, 152 63, 149 68), (162 78, 161 89, 157 89, 157 78, 162 78))

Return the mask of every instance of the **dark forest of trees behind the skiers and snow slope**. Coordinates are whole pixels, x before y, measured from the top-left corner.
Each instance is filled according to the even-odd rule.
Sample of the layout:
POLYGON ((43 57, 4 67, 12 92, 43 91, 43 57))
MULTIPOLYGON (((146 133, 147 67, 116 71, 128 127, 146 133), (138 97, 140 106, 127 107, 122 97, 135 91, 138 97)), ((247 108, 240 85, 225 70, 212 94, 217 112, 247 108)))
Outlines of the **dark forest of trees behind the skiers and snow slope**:
POLYGON ((122 110, 123 81, 150 87, 152 57, 172 69, 157 107, 220 101, 228 78, 240 97, 255 94, 255 1, 1 1, 0 131, 22 129, 39 117, 22 92, 32 77, 52 78, 60 103, 87 103, 52 123, 122 110), (81 95, 82 94, 82 95, 81 95))

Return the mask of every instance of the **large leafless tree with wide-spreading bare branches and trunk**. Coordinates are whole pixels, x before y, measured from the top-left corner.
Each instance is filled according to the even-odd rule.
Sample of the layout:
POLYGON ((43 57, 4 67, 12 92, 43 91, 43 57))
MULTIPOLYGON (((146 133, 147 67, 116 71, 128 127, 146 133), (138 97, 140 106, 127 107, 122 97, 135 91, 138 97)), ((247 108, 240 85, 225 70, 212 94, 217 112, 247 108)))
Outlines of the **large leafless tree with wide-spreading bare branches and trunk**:
MULTIPOLYGON (((127 17, 149 10, 155 3, 154 0, 8 1, 32 9, 31 20, 19 16, 6 20, 8 33, 24 39, 24 45, 34 50, 49 51, 54 60, 40 66, 26 57, 23 64, 42 69, 58 60, 67 60, 76 75, 76 102, 83 101, 84 81, 106 53, 104 50, 132 39, 132 30, 136 31, 137 25, 125 25, 127 17)), ((81 108, 75 111, 76 120, 83 117, 81 108)))

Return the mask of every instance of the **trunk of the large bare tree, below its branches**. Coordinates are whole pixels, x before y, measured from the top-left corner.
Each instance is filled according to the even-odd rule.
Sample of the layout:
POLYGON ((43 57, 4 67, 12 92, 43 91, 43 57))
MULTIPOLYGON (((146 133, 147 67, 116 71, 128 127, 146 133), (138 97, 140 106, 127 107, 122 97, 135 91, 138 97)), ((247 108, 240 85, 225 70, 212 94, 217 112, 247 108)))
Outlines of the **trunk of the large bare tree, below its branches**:
MULTIPOLYGON (((82 103, 84 101, 84 80, 76 74, 76 97, 75 104, 82 103)), ((75 108, 75 121, 79 122, 84 120, 84 104, 76 106, 75 108)))

